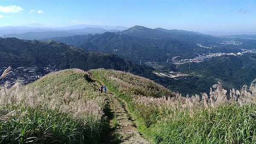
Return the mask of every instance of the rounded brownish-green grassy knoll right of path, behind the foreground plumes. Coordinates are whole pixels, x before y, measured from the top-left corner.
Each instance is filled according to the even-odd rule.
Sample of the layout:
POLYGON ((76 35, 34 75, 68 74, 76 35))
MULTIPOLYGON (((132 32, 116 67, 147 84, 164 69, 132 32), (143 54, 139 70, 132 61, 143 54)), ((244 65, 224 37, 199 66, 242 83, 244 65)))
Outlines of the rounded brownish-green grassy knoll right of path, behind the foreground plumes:
POLYGON ((96 69, 92 70, 92 72, 97 78, 103 82, 107 82, 111 90, 120 94, 144 95, 156 98, 175 95, 164 86, 148 78, 143 78, 131 73, 107 69, 96 69))

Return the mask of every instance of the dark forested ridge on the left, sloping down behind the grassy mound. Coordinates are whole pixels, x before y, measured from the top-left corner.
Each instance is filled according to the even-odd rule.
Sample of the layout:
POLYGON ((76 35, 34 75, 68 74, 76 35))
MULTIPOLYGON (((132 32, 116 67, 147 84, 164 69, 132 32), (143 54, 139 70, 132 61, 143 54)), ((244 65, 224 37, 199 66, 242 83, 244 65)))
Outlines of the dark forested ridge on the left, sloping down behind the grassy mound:
POLYGON ((53 64, 59 69, 79 68, 83 70, 106 68, 132 72, 145 77, 156 77, 145 66, 124 60, 113 54, 90 52, 53 40, 20 40, 0 38, 0 66, 20 67, 28 64, 45 66, 53 64))

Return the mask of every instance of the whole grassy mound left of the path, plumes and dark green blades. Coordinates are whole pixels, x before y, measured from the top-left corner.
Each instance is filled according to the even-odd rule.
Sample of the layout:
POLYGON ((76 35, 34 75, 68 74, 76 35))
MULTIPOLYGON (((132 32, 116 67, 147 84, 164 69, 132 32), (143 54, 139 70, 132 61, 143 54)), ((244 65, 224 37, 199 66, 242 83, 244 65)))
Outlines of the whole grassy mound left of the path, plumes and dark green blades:
POLYGON ((0 143, 99 143, 106 99, 87 73, 67 69, 26 86, 0 86, 0 143))

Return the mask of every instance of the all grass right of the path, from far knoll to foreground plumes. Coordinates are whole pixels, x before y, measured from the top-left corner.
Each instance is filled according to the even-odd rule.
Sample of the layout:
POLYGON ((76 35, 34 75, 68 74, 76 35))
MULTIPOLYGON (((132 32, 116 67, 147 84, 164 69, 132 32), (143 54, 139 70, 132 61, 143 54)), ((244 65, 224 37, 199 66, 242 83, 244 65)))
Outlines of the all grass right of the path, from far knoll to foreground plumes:
POLYGON ((209 95, 183 97, 130 73, 92 72, 128 103, 139 130, 157 144, 256 143, 256 80, 241 90, 215 84, 209 95))

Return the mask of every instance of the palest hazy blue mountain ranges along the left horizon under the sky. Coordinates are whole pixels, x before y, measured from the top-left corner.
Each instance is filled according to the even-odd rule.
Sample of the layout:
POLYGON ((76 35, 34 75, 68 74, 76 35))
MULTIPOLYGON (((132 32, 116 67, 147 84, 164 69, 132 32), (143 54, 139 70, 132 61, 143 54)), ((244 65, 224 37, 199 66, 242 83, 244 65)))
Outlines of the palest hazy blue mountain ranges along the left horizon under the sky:
POLYGON ((16 37, 19 39, 39 40, 48 37, 63 37, 86 34, 102 34, 128 29, 122 26, 74 25, 66 27, 47 27, 44 25, 6 26, 0 28, 0 37, 16 37))

